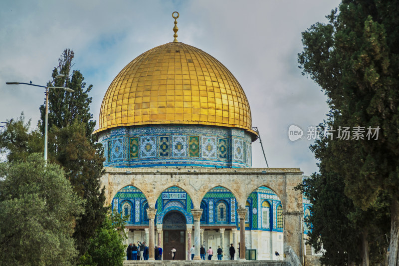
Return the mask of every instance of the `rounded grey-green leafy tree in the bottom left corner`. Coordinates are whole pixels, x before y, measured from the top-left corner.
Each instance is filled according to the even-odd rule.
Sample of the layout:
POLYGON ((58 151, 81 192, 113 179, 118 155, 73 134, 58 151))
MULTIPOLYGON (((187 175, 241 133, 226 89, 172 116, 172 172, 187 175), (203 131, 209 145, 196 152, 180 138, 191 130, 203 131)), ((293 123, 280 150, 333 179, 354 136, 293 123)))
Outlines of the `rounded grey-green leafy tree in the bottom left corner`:
POLYGON ((82 212, 62 169, 41 154, 0 164, 0 264, 73 265, 74 217, 82 212))

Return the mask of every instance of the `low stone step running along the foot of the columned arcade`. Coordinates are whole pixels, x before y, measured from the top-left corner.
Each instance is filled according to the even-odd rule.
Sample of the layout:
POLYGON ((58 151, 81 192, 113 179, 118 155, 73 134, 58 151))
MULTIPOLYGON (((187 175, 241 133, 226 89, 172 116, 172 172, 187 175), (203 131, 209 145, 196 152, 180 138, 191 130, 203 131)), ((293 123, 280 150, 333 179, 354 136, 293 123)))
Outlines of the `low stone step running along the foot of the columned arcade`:
POLYGON ((284 261, 124 261, 123 266, 289 266, 284 261))

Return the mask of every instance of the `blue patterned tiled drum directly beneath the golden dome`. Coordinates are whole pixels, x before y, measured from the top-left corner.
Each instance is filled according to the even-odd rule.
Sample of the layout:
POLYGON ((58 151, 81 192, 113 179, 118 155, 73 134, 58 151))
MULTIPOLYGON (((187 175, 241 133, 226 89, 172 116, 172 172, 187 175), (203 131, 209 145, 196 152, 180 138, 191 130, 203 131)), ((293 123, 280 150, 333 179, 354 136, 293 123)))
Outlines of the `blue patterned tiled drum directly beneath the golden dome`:
POLYGON ((251 167, 251 135, 205 125, 119 127, 98 133, 104 167, 251 167))

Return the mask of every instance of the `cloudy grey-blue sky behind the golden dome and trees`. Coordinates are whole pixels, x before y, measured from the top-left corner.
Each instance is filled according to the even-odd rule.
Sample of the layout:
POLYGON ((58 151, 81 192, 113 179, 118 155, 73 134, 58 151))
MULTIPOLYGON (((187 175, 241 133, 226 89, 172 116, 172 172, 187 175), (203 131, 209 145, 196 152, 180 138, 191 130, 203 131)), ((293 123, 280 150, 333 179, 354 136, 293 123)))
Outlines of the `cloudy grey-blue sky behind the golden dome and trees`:
MULTIPOLYGON (((339 0, 68 0, 0 2, 0 122, 23 111, 36 125, 45 85, 65 48, 74 69, 93 84, 91 112, 98 120, 114 77, 141 53, 173 40, 172 12, 180 12, 179 41, 209 53, 237 78, 248 98, 270 167, 317 171, 311 141, 288 139, 292 124, 306 131, 328 113, 326 97, 301 75, 301 32, 326 21, 339 0)), ((305 136, 306 137, 306 136, 305 136)), ((266 167, 259 140, 253 167, 266 167)))

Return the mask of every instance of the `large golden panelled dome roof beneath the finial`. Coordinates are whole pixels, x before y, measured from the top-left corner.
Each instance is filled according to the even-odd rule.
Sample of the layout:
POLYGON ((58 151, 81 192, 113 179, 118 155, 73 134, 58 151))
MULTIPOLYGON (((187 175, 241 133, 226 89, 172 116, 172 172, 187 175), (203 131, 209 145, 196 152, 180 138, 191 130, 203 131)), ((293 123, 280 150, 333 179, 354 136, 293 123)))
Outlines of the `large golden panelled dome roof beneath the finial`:
POLYGON ((199 124, 251 130, 241 85, 204 51, 170 42, 131 61, 115 77, 100 110, 100 132, 119 126, 199 124))

